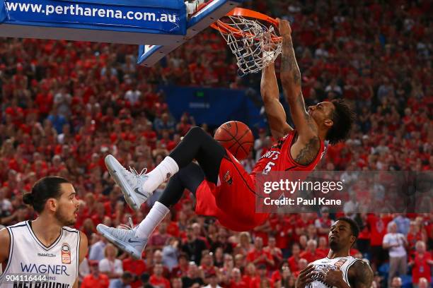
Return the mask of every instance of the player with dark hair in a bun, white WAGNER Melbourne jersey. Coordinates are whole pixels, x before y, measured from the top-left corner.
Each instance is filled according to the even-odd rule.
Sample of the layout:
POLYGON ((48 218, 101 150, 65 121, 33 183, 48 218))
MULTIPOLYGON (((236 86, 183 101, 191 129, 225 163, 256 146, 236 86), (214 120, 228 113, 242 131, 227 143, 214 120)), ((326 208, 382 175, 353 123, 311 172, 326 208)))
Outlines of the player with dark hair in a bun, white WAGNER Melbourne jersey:
POLYGON ((0 230, 0 287, 78 288, 87 237, 75 224, 79 202, 69 181, 47 176, 23 196, 38 214, 0 230))

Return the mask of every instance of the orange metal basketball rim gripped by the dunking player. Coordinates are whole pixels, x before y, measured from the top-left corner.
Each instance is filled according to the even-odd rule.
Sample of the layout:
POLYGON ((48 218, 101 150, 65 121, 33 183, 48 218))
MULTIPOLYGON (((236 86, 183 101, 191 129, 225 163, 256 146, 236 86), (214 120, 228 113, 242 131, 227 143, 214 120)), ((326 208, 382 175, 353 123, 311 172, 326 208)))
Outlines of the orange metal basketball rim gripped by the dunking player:
MULTIPOLYGON (((262 13, 259 13, 259 12, 253 11, 253 10, 245 9, 245 8, 234 8, 232 11, 227 13, 226 16, 241 16, 241 17, 245 17, 245 18, 254 18, 254 19, 258 19, 258 20, 263 20, 263 21, 266 21, 267 23, 274 25, 276 28, 278 28, 278 21, 275 18, 269 17, 265 14, 262 14, 262 13)), ((253 36, 251 33, 242 32, 241 30, 239 30, 237 28, 233 28, 233 27, 231 27, 231 25, 228 25, 221 20, 217 20, 217 22, 213 23, 210 26, 216 30, 219 30, 221 33, 224 33, 224 34, 233 33, 233 35, 239 36, 239 37, 244 36, 244 35, 253 36)), ((273 42, 281 42, 281 40, 282 40, 281 36, 277 36, 277 35, 272 36, 273 42)))

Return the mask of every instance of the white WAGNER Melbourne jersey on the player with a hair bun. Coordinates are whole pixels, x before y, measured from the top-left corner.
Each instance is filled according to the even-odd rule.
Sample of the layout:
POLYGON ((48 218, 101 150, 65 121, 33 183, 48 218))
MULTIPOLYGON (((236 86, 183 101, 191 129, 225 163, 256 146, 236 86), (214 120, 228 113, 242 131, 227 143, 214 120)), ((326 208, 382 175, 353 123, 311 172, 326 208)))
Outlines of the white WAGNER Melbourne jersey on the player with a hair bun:
POLYGON ((78 277, 80 233, 63 227, 47 247, 33 233, 30 221, 6 227, 11 237, 8 263, 0 275, 0 287, 72 288, 78 277), (36 282, 30 277, 37 276, 36 282), (17 281, 11 281, 17 280, 17 281))

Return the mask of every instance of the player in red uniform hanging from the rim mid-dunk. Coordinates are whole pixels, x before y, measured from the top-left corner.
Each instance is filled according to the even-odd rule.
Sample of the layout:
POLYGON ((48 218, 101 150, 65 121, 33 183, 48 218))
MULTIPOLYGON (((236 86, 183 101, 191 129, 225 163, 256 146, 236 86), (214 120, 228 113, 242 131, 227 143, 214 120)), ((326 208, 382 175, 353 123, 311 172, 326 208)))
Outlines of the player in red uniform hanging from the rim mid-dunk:
POLYGON ((97 229, 105 238, 140 258, 150 234, 169 208, 178 202, 185 188, 195 194, 197 214, 217 217, 221 224, 235 231, 252 229, 268 217, 265 213, 255 212, 256 174, 271 170, 311 171, 323 154, 323 140, 334 144, 345 139, 352 125, 353 113, 340 101, 321 102, 306 111, 301 73, 287 21, 279 22, 279 32, 283 37, 281 80, 296 130, 286 123, 271 65, 263 70, 261 92, 272 135, 279 140, 257 162, 251 174, 229 151, 198 127, 192 128, 171 154, 148 174, 129 172, 115 157, 108 155, 105 158, 108 171, 122 188, 127 203, 135 210, 163 181, 170 181, 138 227, 127 230, 99 224, 97 229), (192 163, 194 159, 200 166, 192 163))

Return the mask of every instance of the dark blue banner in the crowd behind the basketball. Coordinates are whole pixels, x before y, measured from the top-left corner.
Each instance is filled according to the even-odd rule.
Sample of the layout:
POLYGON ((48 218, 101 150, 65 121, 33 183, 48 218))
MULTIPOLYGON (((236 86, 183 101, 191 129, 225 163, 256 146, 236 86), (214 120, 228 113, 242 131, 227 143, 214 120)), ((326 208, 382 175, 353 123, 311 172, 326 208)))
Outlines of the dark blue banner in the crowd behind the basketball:
POLYGON ((246 95, 246 90, 220 88, 184 88, 162 86, 170 112, 176 119, 184 112, 194 116, 197 124, 219 126, 237 120, 253 127, 265 126, 260 108, 246 95))

